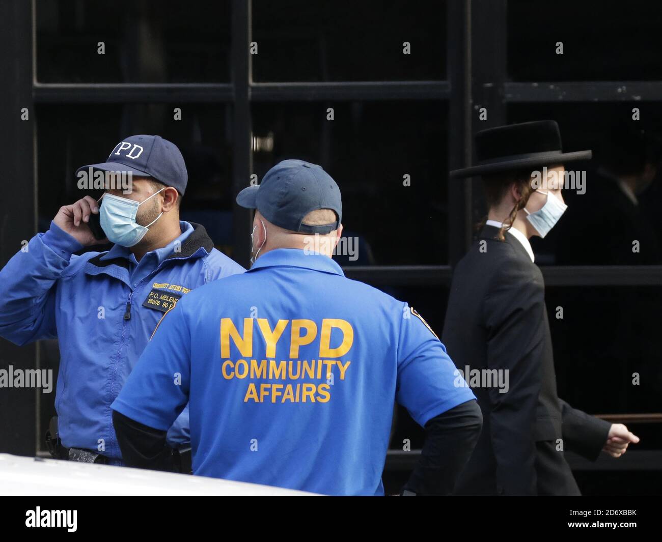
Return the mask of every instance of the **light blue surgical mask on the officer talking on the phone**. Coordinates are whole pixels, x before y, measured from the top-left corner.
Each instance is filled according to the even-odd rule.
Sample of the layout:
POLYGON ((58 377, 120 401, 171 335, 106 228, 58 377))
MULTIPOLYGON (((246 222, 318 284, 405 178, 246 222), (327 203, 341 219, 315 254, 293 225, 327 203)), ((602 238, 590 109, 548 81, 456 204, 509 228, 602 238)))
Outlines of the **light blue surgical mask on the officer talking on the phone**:
MULTIPOLYGON (((159 192, 165 189, 166 187, 163 187, 159 192)), ((132 199, 120 198, 119 196, 113 196, 108 193, 104 194, 101 200, 101 208, 99 209, 99 222, 108 240, 111 243, 124 247, 132 247, 140 242, 148 232, 150 226, 161 218, 163 212, 147 224, 147 226, 140 226, 136 222, 138 207, 148 199, 152 199, 159 192, 155 192, 140 203, 132 199)))

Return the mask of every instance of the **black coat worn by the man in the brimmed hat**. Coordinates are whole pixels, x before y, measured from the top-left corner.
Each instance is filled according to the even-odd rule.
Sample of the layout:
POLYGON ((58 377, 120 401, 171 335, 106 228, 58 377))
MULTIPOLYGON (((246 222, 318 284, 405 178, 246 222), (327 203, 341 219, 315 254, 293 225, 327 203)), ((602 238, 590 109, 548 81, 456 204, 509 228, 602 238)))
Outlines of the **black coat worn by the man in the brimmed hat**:
POLYGON ((458 369, 508 371, 506 393, 473 388, 483 432, 455 493, 579 494, 557 439, 594 460, 610 424, 559 400, 542 273, 497 232, 485 226, 457 265, 442 335, 458 369))

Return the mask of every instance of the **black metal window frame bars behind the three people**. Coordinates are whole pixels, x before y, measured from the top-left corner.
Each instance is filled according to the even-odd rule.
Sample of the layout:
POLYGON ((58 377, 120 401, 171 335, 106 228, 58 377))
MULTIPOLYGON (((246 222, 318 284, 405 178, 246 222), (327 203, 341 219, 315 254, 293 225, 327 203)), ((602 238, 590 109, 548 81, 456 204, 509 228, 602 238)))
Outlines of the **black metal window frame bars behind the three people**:
MULTIPOLYGON (((662 99, 662 81, 507 81, 506 0, 447 0, 447 81, 365 81, 332 83, 254 83, 252 57, 252 2, 231 0, 231 83, 39 83, 33 69, 34 103, 226 103, 234 109, 232 190, 248 185, 252 174, 252 119, 250 105, 265 101, 377 101, 440 100, 449 106, 449 168, 471 162, 471 134, 507 121, 511 103, 652 101, 662 99), (452 46, 451 46, 452 44, 452 46), (459 46, 461 44, 461 46, 459 46), (622 89, 626 87, 627 92, 622 89), (477 105, 490 111, 489 122, 479 121, 477 105)), ((34 21, 35 3, 32 3, 34 21)), ((32 66, 36 28, 32 24, 32 66)), ((346 273, 375 285, 448 286, 453 265, 471 243, 471 208, 476 204, 473 183, 448 183, 448 265, 377 265, 351 267, 346 273)), ((240 263, 248 263, 249 213, 234 206, 234 245, 240 263)), ((441 225, 440 225, 441 226, 441 225)), ((550 286, 661 285, 662 266, 651 267, 543 267, 550 286)))

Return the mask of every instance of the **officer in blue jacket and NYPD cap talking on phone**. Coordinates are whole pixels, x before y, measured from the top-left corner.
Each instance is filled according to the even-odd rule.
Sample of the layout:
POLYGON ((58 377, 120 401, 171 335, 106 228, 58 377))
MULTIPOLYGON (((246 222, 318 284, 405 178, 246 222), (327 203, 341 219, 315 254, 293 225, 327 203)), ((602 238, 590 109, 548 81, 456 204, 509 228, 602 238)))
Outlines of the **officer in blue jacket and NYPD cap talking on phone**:
MULTIPOLYGON (((244 269, 213 248, 205 228, 179 221, 187 171, 174 144, 131 136, 105 163, 81 167, 77 177, 99 171, 121 171, 132 186, 115 186, 106 177, 103 186, 115 187, 105 191, 100 207, 86 196, 60 208, 50 229, 12 257, 0 271, 0 336, 18 345, 59 339, 51 453, 121 465, 111 404, 158 323, 193 289, 244 269), (105 233, 115 246, 73 255, 106 242, 88 227, 96 214, 100 237, 105 233)), ((167 429, 169 446, 186 445, 187 410, 167 429)))

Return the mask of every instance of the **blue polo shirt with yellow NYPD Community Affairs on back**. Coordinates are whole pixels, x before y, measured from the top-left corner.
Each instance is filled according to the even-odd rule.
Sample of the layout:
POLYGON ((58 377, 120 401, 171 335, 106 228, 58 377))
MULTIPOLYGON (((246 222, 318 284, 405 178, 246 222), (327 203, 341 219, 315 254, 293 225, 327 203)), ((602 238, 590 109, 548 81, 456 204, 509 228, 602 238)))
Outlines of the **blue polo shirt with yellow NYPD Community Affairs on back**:
POLYGON ((112 406, 164 430, 189 402, 195 474, 383 495, 393 401, 424 426, 475 399, 454 371, 406 303, 275 249, 182 298, 112 406))

